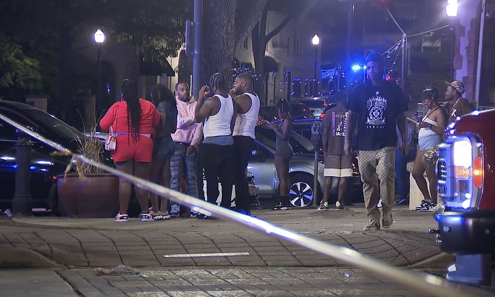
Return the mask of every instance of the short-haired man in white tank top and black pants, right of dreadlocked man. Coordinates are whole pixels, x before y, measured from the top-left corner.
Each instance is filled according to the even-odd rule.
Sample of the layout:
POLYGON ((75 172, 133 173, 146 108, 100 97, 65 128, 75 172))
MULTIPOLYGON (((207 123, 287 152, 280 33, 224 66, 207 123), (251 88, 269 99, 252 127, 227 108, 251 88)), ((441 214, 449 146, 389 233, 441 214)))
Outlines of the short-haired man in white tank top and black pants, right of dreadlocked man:
POLYGON ((249 188, 246 170, 249 156, 254 145, 254 127, 258 120, 259 98, 252 91, 252 77, 248 73, 237 75, 230 94, 237 105, 237 117, 234 126, 234 179, 236 183, 236 209, 250 215, 249 188))

